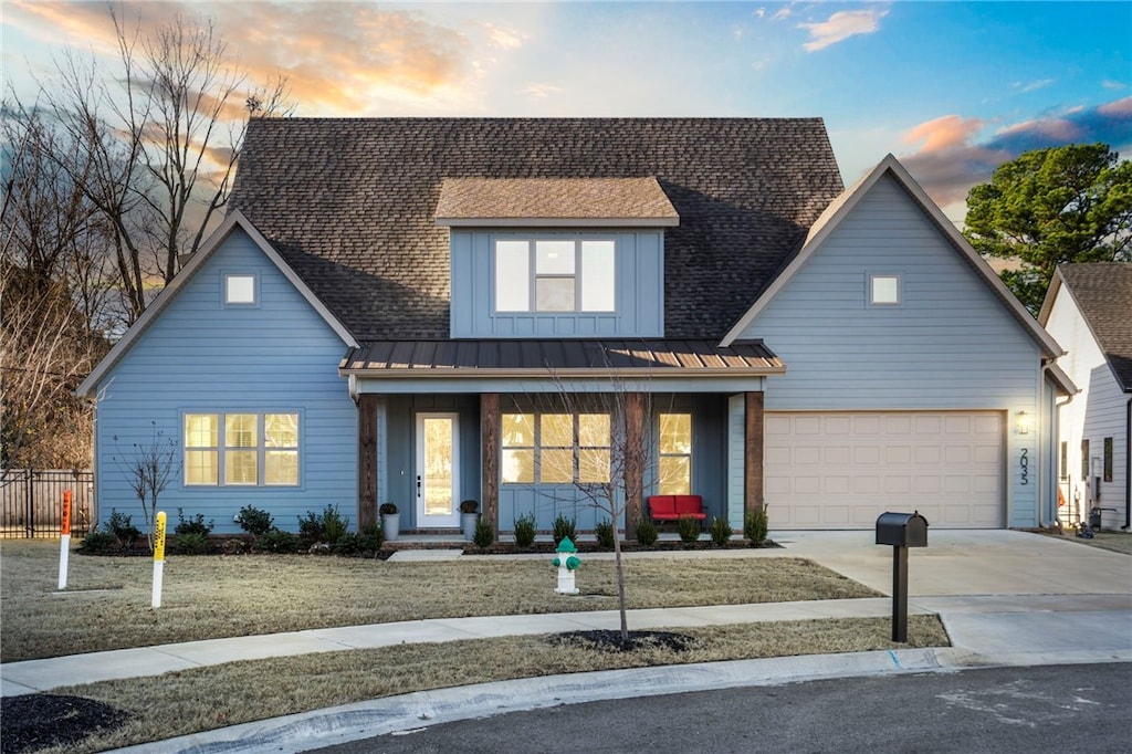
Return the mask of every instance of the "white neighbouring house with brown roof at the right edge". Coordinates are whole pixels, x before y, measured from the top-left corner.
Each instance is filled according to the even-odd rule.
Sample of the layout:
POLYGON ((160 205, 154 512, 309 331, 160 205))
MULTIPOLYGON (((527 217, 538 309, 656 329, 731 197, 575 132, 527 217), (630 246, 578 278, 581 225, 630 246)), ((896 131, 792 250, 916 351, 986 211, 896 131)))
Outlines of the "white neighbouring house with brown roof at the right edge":
POLYGON ((1057 365, 1081 389, 1060 412, 1060 520, 1075 524, 1096 507, 1104 529, 1127 531, 1132 264, 1060 266, 1038 320, 1067 349, 1057 365))

